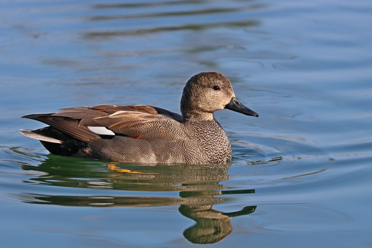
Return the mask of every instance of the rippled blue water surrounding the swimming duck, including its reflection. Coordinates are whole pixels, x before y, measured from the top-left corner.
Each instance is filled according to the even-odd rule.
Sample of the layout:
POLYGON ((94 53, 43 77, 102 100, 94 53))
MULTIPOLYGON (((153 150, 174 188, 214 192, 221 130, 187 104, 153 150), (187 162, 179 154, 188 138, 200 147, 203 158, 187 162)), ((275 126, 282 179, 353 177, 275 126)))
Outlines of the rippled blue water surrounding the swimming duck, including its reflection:
POLYGON ((371 247, 371 10, 366 0, 3 1, 1 244, 371 247), (260 115, 216 113, 231 166, 59 157, 18 132, 43 126, 20 116, 67 106, 179 112, 201 71, 226 75, 260 115))

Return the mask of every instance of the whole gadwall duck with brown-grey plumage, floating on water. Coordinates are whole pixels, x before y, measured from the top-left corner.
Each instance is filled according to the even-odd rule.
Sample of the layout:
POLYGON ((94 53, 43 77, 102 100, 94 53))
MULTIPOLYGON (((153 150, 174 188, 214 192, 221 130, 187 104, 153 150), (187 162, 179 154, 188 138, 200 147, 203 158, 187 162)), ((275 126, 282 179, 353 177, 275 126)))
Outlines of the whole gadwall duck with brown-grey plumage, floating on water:
POLYGON ((231 145, 214 112, 258 114, 241 104, 230 81, 216 72, 187 81, 181 113, 147 105, 67 107, 26 115, 49 126, 20 130, 56 155, 141 164, 214 164, 231 160, 231 145))

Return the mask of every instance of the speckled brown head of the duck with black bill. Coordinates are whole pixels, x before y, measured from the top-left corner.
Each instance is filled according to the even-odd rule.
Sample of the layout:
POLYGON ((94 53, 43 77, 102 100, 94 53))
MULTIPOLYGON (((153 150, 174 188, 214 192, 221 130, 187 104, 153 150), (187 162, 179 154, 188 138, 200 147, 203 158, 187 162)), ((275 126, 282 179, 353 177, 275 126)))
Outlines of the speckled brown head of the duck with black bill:
POLYGON ((181 112, 186 119, 211 120, 213 113, 230 109, 244 115, 258 114, 236 99, 230 81, 216 72, 199 73, 187 81, 181 99, 181 112))

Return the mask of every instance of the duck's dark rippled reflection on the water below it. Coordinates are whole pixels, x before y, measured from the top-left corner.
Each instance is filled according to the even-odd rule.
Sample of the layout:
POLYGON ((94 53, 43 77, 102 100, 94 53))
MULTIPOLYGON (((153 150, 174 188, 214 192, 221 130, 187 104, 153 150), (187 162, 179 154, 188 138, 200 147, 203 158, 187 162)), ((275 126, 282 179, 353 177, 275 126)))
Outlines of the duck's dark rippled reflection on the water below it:
MULTIPOLYGON (((246 206, 236 212, 224 213, 212 209, 224 201, 224 194, 248 194, 254 190, 228 190, 219 184, 229 179, 229 164, 213 165, 128 165, 99 164, 76 158, 48 155, 38 167, 22 165, 23 170, 41 171, 43 175, 30 178, 26 183, 93 189, 125 191, 179 191, 180 197, 151 196, 68 196, 19 194, 24 202, 61 206, 90 207, 151 207, 180 205, 179 212, 194 220, 183 235, 196 244, 212 244, 232 232, 231 219, 253 213, 256 206, 246 206), (90 163, 89 163, 90 162, 90 163), (129 172, 129 173, 128 173, 129 172)), ((142 193, 143 194, 143 193, 142 193)))

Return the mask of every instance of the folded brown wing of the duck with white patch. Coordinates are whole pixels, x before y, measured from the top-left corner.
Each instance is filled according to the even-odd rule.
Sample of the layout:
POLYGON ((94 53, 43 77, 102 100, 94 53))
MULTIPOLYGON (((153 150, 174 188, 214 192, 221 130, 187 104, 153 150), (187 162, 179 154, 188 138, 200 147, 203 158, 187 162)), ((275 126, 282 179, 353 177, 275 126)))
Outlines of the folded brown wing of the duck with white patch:
POLYGON ((145 140, 185 138, 183 124, 177 120, 182 117, 147 105, 97 105, 60 110, 54 114, 23 117, 44 122, 87 143, 100 139, 102 135, 125 135, 145 140))

